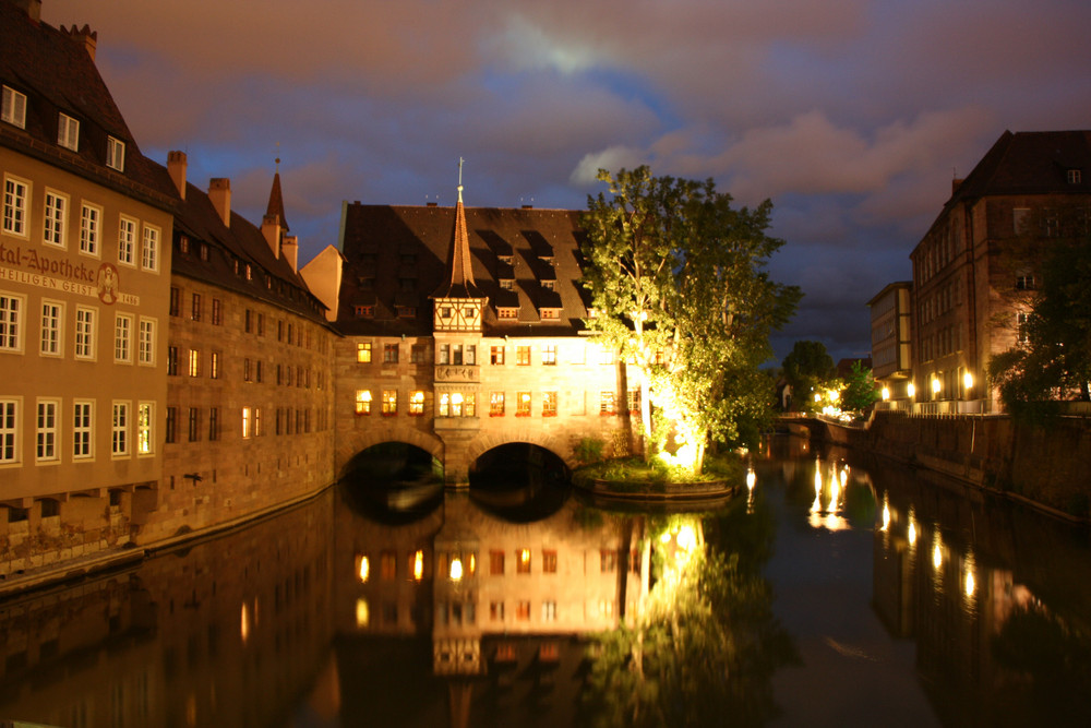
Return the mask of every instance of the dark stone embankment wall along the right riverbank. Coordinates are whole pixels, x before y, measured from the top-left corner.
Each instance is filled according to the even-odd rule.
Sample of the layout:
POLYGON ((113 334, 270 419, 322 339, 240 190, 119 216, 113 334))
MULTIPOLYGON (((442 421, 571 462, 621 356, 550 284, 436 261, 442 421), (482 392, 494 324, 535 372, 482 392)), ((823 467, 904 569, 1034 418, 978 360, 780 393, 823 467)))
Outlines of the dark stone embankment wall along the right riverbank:
POLYGON ((816 442, 875 453, 1072 520, 1091 516, 1091 420, 1030 426, 1007 416, 913 417, 874 411, 863 427, 794 420, 816 442))

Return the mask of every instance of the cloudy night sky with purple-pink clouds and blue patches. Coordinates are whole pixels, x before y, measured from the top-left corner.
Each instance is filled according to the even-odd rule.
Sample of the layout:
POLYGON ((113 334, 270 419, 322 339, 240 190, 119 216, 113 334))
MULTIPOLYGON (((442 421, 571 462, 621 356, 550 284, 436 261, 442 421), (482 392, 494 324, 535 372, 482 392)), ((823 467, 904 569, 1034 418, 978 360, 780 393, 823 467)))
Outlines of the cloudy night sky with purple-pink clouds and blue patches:
POLYGON ((775 339, 866 356, 866 302, 1005 131, 1091 128, 1087 0, 44 0, 89 24, 141 151, 231 179, 274 158, 301 261, 343 200, 584 208, 599 167, 770 198, 775 339), (277 147, 279 144, 279 148, 277 147))

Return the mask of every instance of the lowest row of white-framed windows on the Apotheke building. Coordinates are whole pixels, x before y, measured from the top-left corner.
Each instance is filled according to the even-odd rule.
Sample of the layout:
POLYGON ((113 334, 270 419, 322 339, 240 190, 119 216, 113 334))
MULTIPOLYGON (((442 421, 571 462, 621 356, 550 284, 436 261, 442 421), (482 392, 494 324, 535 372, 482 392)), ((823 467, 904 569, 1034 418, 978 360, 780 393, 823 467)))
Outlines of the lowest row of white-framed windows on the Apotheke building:
MULTIPOLYGON (((22 407, 23 397, 0 397, 0 464, 24 462, 22 407)), ((65 410, 61 398, 39 397, 34 410, 34 461, 59 463, 65 457, 72 462, 93 461, 96 425, 109 427, 113 457, 128 457, 133 452, 153 454, 153 403, 140 402, 133 409, 132 402, 115 399, 106 413, 109 418, 106 422, 97 421, 95 409, 95 399, 73 399, 71 408, 65 410)))

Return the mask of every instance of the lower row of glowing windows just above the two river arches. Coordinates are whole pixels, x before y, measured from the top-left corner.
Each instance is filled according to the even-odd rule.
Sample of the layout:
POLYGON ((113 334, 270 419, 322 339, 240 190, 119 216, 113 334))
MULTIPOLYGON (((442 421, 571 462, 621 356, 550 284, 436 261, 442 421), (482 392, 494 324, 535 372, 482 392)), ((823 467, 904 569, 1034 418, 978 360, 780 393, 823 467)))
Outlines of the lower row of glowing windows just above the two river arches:
MULTIPOLYGON (((398 414, 398 391, 381 390, 381 408, 379 411, 384 416, 398 414)), ((599 392, 599 414, 603 416, 616 415, 618 395, 614 392, 599 392)), ((356 391, 356 414, 371 415, 373 410, 374 396, 371 390, 356 391)), ((517 392, 515 395, 515 416, 530 417, 532 415, 533 395, 530 392, 517 392)), ((542 417, 556 417, 558 393, 555 391, 542 392, 539 396, 542 417)), ((503 417, 506 414, 507 397, 504 392, 489 393, 489 416, 503 417)), ((627 405, 631 413, 640 411, 640 392, 634 390, 627 394, 627 405)), ((413 390, 409 392, 410 416, 419 417, 424 414, 424 391, 413 390)), ((477 393, 476 392, 440 392, 435 394, 435 416, 436 417, 476 417, 477 416, 477 393)))

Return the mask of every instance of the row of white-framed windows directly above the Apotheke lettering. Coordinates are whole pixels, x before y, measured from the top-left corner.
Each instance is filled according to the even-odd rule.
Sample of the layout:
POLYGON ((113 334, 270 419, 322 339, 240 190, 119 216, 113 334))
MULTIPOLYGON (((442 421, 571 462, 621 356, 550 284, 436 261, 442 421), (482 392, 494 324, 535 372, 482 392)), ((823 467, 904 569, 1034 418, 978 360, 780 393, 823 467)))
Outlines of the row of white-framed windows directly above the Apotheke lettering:
MULTIPOLYGON (((31 191, 28 180, 4 176, 3 222, 5 234, 29 238, 31 191)), ((65 250, 69 247, 69 217, 71 201, 69 195, 46 188, 43 201, 41 242, 65 250)), ((103 207, 84 201, 80 205, 79 251, 92 258, 101 258, 103 207)), ((161 230, 148 223, 123 213, 118 216, 118 263, 129 267, 140 265, 145 271, 159 270, 159 239, 161 230), (139 256, 139 260, 137 260, 139 256)))

